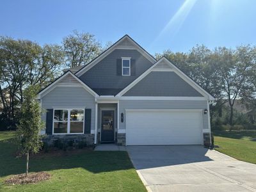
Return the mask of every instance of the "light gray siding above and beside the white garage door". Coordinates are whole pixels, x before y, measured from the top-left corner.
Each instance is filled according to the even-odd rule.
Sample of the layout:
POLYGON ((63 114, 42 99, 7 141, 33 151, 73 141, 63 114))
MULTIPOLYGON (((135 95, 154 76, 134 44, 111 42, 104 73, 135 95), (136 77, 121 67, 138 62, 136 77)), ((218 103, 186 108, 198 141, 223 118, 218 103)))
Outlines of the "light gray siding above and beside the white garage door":
POLYGON ((125 129, 125 109, 202 109, 203 129, 208 129, 206 100, 120 100, 119 115, 124 113, 124 122, 119 118, 119 129, 125 129))

